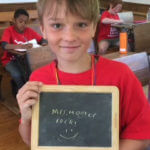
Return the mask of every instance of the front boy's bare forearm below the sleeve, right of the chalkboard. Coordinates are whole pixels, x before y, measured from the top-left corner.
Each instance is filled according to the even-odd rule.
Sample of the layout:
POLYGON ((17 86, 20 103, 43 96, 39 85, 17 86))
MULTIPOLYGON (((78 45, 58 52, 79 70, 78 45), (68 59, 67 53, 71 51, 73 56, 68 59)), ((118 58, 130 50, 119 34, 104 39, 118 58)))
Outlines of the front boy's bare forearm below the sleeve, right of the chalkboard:
POLYGON ((120 140, 119 150, 146 150, 150 140, 120 140))

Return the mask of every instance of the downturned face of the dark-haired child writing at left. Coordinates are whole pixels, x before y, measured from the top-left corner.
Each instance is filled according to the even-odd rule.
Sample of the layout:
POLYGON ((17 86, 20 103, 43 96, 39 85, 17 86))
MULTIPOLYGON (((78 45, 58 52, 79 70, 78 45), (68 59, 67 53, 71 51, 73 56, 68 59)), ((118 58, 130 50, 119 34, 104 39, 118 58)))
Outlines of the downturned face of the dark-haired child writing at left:
POLYGON ((15 19, 16 30, 20 33, 24 32, 28 20, 29 20, 28 16, 25 15, 20 15, 18 18, 16 18, 15 19))

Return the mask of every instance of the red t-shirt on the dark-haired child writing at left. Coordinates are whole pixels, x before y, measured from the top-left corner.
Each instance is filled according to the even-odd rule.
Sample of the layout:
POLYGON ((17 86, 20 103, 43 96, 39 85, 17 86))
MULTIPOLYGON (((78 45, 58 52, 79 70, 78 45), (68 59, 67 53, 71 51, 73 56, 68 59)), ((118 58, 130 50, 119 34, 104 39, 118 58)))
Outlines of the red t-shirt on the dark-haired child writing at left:
MULTIPOLYGON (((21 34, 15 30, 14 26, 10 26, 5 29, 2 35, 1 42, 7 42, 9 44, 21 44, 32 39, 36 39, 37 42, 40 42, 42 40, 42 36, 28 27, 25 29, 24 33, 21 34)), ((4 51, 1 59, 2 64, 5 66, 12 59, 14 59, 14 56, 7 51, 4 51)))

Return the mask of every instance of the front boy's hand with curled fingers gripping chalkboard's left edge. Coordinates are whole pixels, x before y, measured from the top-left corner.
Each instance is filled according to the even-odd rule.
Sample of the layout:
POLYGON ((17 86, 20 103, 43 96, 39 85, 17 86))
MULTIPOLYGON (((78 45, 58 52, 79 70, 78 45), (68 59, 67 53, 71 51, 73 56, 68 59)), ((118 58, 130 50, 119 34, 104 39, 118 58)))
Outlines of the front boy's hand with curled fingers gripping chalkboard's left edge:
POLYGON ((28 124, 32 117, 32 106, 36 104, 42 83, 27 82, 17 94, 17 101, 21 112, 21 121, 28 124))

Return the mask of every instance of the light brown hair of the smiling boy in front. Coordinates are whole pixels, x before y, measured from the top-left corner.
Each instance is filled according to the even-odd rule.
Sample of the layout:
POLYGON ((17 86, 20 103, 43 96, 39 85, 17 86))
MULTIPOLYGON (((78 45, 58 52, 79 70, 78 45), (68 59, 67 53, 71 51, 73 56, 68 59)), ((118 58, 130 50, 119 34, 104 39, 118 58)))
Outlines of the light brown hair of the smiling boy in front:
POLYGON ((40 23, 43 23, 43 14, 47 6, 50 6, 49 10, 54 11, 55 14, 59 11, 62 1, 66 2, 67 11, 72 14, 81 16, 94 24, 97 23, 99 18, 99 1, 98 0, 38 0, 37 10, 40 23), (49 3, 49 5, 48 5, 49 3), (54 8, 54 3, 56 7, 54 8), (55 10, 54 10, 55 9, 55 10))

